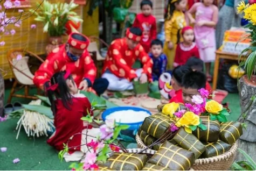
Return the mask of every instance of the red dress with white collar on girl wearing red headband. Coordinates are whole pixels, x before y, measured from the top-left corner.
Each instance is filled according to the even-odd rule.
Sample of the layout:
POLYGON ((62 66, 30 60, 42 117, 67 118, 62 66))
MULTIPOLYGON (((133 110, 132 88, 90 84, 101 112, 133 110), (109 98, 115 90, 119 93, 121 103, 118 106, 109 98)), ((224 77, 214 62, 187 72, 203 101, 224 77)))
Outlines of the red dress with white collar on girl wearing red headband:
POLYGON ((198 48, 195 42, 192 42, 190 47, 186 47, 183 43, 177 45, 174 62, 177 66, 184 65, 186 61, 192 56, 200 58, 198 48))

